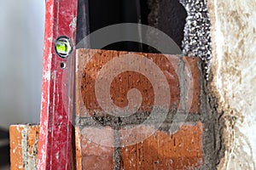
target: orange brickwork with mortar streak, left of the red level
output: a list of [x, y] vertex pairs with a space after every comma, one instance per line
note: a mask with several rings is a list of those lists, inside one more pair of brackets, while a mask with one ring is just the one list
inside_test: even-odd
[[36, 168], [39, 126], [13, 125], [9, 133], [11, 169]]

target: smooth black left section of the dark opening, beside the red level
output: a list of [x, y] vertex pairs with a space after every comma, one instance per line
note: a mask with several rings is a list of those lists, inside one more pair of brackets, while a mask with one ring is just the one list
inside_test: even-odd
[[[140, 0], [79, 0], [77, 43], [90, 32], [105, 26], [140, 23], [140, 9]], [[129, 30], [125, 30], [124, 34], [129, 35]], [[90, 41], [90, 48], [94, 48], [95, 40]], [[103, 49], [143, 51], [142, 44], [138, 42], [115, 42]]]

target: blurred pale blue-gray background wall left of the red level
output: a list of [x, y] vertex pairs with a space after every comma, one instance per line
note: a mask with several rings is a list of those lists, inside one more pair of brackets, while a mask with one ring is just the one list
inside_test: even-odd
[[44, 0], [0, 0], [0, 127], [39, 122]]

